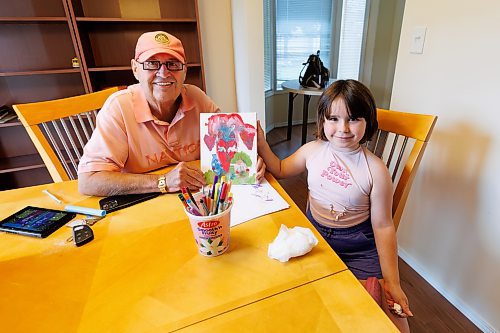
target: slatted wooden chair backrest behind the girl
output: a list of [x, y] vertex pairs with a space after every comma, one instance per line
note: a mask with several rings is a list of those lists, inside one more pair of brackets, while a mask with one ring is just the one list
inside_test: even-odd
[[382, 158], [394, 182], [392, 218], [396, 230], [437, 116], [377, 109], [379, 130], [367, 143]]

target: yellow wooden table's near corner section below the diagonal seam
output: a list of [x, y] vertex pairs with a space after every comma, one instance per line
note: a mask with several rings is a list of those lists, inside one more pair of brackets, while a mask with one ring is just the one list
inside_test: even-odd
[[339, 272], [180, 332], [399, 332], [354, 275]]

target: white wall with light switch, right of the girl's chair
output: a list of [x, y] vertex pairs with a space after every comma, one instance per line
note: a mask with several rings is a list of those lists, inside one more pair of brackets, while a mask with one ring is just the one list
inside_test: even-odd
[[[424, 53], [410, 54], [426, 26]], [[407, 0], [391, 109], [439, 116], [398, 230], [401, 256], [500, 331], [500, 2]], [[410, 300], [411, 301], [411, 300]]]

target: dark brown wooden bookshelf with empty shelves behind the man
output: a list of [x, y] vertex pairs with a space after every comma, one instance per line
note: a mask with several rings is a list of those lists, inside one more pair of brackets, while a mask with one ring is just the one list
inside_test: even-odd
[[[133, 84], [135, 43], [154, 30], [181, 39], [186, 82], [205, 90], [197, 0], [0, 0], [0, 105]], [[0, 174], [0, 190], [52, 181], [17, 120], [0, 124]]]

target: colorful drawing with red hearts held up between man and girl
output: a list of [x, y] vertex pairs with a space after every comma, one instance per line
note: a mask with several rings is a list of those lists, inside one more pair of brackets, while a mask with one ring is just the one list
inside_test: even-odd
[[200, 115], [201, 170], [207, 183], [226, 176], [233, 184], [255, 184], [257, 166], [255, 113]]

